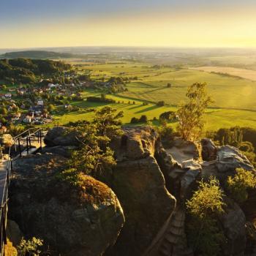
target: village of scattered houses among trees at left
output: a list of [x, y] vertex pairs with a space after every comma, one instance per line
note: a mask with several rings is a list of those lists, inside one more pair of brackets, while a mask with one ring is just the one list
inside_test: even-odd
[[[83, 83], [50, 83], [41, 80], [37, 86], [0, 85], [0, 133], [10, 125], [50, 124], [57, 110], [71, 110], [72, 100], [81, 100]], [[49, 83], [48, 83], [49, 82]]]

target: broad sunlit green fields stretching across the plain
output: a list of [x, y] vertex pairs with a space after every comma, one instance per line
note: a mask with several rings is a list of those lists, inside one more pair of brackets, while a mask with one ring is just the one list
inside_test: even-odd
[[[72, 63], [75, 64], [75, 63]], [[171, 67], [153, 68], [143, 63], [117, 63], [117, 64], [86, 64], [79, 63], [80, 71], [91, 72], [94, 79], [111, 76], [138, 77], [127, 84], [128, 91], [109, 95], [120, 101], [120, 104], [110, 106], [124, 111], [124, 124], [129, 124], [133, 116], [148, 116], [148, 119], [159, 118], [159, 114], [167, 110], [176, 110], [186, 99], [187, 86], [195, 82], [208, 83], [208, 93], [214, 99], [212, 108], [206, 113], [206, 129], [219, 129], [220, 127], [233, 127], [235, 125], [256, 128], [256, 82], [246, 79], [232, 78], [225, 75], [216, 75], [192, 69], [174, 69]], [[167, 88], [171, 83], [171, 88]], [[93, 91], [85, 91], [84, 99], [89, 95], [99, 95]], [[128, 104], [135, 100], [136, 104]], [[165, 107], [158, 107], [155, 102], [164, 100]], [[142, 105], [143, 102], [148, 105]], [[122, 103], [124, 102], [124, 103]], [[99, 108], [102, 104], [91, 102], [74, 102], [80, 108]], [[66, 124], [69, 121], [91, 119], [93, 113], [67, 113], [56, 116], [54, 124]], [[171, 124], [175, 126], [176, 124]]]

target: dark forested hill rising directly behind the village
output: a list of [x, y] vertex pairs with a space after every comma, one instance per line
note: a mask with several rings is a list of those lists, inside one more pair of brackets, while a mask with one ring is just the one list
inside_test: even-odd
[[56, 75], [71, 69], [63, 61], [42, 59], [0, 59], [0, 80], [5, 83], [35, 83], [44, 76]]

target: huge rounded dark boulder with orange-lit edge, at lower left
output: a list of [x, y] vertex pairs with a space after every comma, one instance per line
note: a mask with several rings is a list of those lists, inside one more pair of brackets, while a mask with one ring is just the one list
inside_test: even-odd
[[118, 238], [123, 210], [114, 192], [90, 176], [79, 187], [59, 181], [65, 161], [54, 154], [16, 160], [10, 218], [26, 238], [42, 238], [56, 255], [102, 255]]

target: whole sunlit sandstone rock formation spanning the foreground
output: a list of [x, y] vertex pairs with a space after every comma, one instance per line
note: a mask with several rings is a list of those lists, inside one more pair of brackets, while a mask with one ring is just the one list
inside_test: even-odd
[[[75, 132], [55, 127], [45, 144], [42, 154], [15, 163], [10, 217], [25, 235], [41, 236], [64, 255], [192, 256], [185, 202], [197, 181], [216, 176], [224, 184], [237, 167], [255, 172], [231, 146], [175, 138], [163, 148], [154, 129], [128, 127], [110, 143], [117, 165], [99, 177], [107, 185], [85, 176], [78, 191], [56, 179], [69, 150], [78, 146]], [[219, 217], [227, 238], [222, 252], [242, 255], [246, 217], [231, 198], [225, 196], [225, 203]]]

